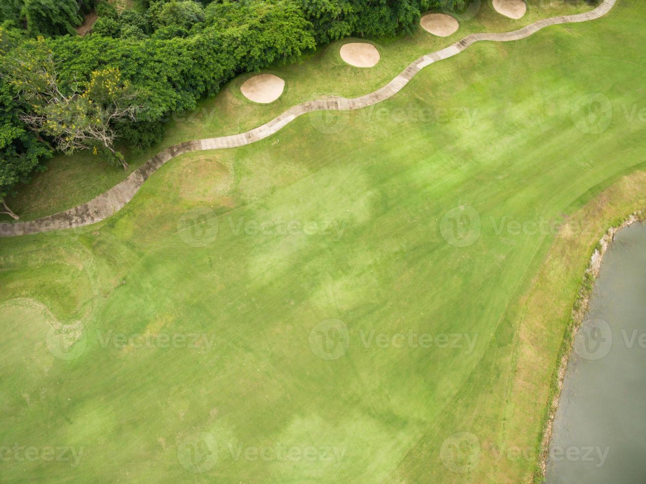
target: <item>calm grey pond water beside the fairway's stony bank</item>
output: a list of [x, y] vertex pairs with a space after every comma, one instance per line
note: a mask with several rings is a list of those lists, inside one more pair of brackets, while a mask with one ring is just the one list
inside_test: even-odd
[[646, 483], [646, 225], [607, 251], [570, 357], [548, 483]]

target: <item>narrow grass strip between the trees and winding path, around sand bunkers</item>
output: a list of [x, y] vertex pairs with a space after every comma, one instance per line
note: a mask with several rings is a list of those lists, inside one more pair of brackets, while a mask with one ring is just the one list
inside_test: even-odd
[[[315, 54], [304, 56], [300, 63], [264, 71], [286, 80], [284, 94], [274, 103], [260, 105], [244, 98], [240, 85], [253, 75], [245, 74], [225, 85], [220, 95], [200, 102], [195, 111], [170, 116], [167, 135], [151, 149], [136, 151], [126, 146], [121, 147], [121, 151], [125, 153], [130, 168], [136, 169], [170, 145], [244, 132], [302, 101], [325, 95], [355, 97], [372, 92], [397, 76], [414, 59], [446, 47], [472, 32], [506, 32], [537, 19], [589, 9], [590, 6], [583, 1], [567, 5], [555, 1], [542, 8], [530, 5], [523, 19], [512, 21], [496, 14], [483, 2], [479, 15], [464, 22], [451, 37], [435, 37], [420, 28], [412, 37], [373, 42], [380, 50], [381, 60], [370, 69], [354, 68], [341, 60], [340, 45], [352, 39], [335, 42]], [[479, 68], [486, 69], [485, 72], [496, 69], [494, 65], [480, 65]], [[339, 79], [344, 81], [340, 83]], [[453, 83], [451, 78], [446, 78], [446, 81]], [[45, 173], [36, 174], [30, 184], [19, 186], [16, 197], [8, 198], [8, 204], [22, 220], [34, 220], [87, 202], [127, 176], [119, 167], [107, 165], [89, 152], [57, 156], [47, 163], [47, 168]], [[10, 220], [8, 216], [0, 215], [0, 221]]]

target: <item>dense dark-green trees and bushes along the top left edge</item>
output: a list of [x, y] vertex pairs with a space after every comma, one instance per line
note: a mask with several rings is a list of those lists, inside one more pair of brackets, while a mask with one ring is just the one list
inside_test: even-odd
[[[342, 37], [410, 34], [424, 10], [460, 1], [140, 0], [118, 12], [106, 1], [4, 0], [0, 200], [54, 151], [110, 155], [116, 140], [148, 147], [170, 112], [194, 109], [236, 74]], [[76, 35], [92, 10], [92, 32]], [[129, 107], [117, 99], [125, 92]]]

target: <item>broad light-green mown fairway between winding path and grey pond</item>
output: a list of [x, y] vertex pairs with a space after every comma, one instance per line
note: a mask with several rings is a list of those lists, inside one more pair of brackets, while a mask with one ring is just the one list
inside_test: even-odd
[[[95, 226], [0, 239], [0, 445], [83, 447], [76, 467], [3, 461], [3, 479], [531, 478], [535, 456], [514, 459], [499, 450], [536, 448], [586, 258], [601, 227], [643, 201], [643, 176], [629, 178], [632, 184], [621, 178], [646, 162], [644, 123], [627, 120], [622, 109], [646, 107], [638, 75], [646, 14], [637, 5], [621, 1], [605, 19], [550, 27], [523, 41], [477, 44], [422, 70], [373, 109], [329, 114], [342, 128], [335, 134], [321, 132], [325, 115], [313, 113], [253, 145], [176, 158]], [[289, 84], [281, 106], [244, 104], [236, 79], [207, 103], [244, 106], [239, 114], [232, 108], [210, 126], [175, 125], [164, 144], [260, 123], [307, 99], [313, 79], [328, 79], [326, 93], [371, 90], [433, 50], [422, 49], [420, 36], [388, 47], [398, 60], [384, 59], [379, 79], [361, 71], [340, 83], [346, 68], [329, 50], [277, 70], [307, 72], [302, 84]], [[590, 92], [605, 94], [614, 108], [598, 135], [578, 131], [571, 116], [574, 101]], [[476, 117], [470, 124], [401, 116], [422, 109], [465, 109]], [[42, 178], [41, 189], [59, 163], [36, 180]], [[71, 160], [67, 167], [78, 169]], [[102, 176], [89, 176], [85, 188], [56, 204], [112, 183]], [[59, 189], [40, 196], [53, 198]], [[25, 200], [23, 212], [33, 216], [58, 209], [36, 207], [35, 194]], [[459, 205], [474, 207], [481, 220], [480, 237], [466, 247], [448, 244], [441, 230], [443, 216]], [[196, 206], [213, 212], [191, 231], [182, 215]], [[569, 237], [497, 230], [503, 220], [555, 221], [563, 214], [594, 229]], [[202, 231], [214, 233], [215, 220], [213, 242], [198, 246]], [[278, 220], [333, 221], [343, 231], [317, 226], [308, 235], [293, 225], [293, 233], [265, 226], [254, 234], [245, 225]], [[347, 352], [332, 361], [308, 344], [328, 319], [349, 331]], [[83, 353], [52, 356], [48, 329], [78, 321], [86, 337], [74, 348], [85, 345]], [[215, 344], [104, 347], [110, 330], [199, 333]], [[364, 344], [372, 330], [476, 339], [472, 351], [441, 348], [441, 340], [430, 348], [380, 348]], [[178, 459], [195, 432], [213, 434], [218, 445], [216, 465], [202, 474]], [[465, 474], [441, 459], [443, 443], [457, 432], [474, 434], [481, 446], [479, 463]], [[229, 450], [279, 444], [314, 447], [314, 458], [322, 447], [343, 456], [336, 465], [283, 461], [275, 452], [267, 460], [244, 453], [236, 459]]]

